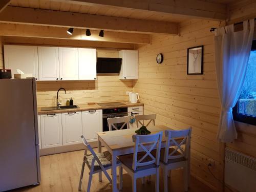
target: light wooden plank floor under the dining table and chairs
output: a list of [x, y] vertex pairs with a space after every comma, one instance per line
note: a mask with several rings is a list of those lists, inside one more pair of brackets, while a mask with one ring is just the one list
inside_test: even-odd
[[[97, 151], [97, 149], [95, 150]], [[41, 183], [37, 186], [24, 187], [12, 191], [78, 191], [78, 182], [82, 164], [83, 151], [55, 154], [40, 157], [41, 163]], [[89, 169], [86, 166], [84, 172], [84, 182], [82, 183], [82, 190], [86, 191]], [[103, 174], [102, 174], [103, 175]], [[109, 184], [105, 176], [102, 177], [103, 181], [98, 181], [98, 176], [93, 176], [93, 183], [91, 191], [111, 192], [112, 186]], [[150, 192], [155, 191], [154, 177], [150, 183], [141, 184], [141, 180], [137, 180], [137, 191]], [[168, 183], [168, 191], [178, 192], [183, 190], [183, 177], [182, 169], [174, 170], [172, 172], [172, 179]], [[124, 173], [123, 175], [123, 192], [132, 191], [131, 177]], [[160, 191], [163, 191], [162, 172], [160, 170]], [[191, 177], [189, 191], [213, 191], [205, 184], [197, 179]]]

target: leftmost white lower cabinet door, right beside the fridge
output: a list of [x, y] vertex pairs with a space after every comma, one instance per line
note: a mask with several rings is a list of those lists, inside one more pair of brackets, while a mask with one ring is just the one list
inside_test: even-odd
[[41, 148], [62, 146], [61, 114], [40, 116]]

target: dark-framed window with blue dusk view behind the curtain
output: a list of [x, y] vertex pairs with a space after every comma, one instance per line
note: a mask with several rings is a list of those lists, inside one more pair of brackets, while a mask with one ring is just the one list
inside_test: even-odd
[[256, 125], [256, 40], [252, 42], [241, 95], [233, 108], [234, 120]]

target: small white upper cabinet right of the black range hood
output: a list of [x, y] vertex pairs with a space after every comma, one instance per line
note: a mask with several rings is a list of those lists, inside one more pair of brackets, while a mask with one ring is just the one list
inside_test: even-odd
[[122, 58], [119, 79], [138, 79], [138, 51], [121, 50], [119, 58]]

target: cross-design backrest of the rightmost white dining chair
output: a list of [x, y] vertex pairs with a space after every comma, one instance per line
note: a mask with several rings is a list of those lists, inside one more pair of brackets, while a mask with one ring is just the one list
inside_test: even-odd
[[[165, 130], [166, 146], [164, 152], [164, 162], [169, 159], [188, 158], [190, 150], [191, 127], [186, 130]], [[172, 145], [170, 150], [170, 145]], [[185, 145], [182, 147], [182, 145]]]

